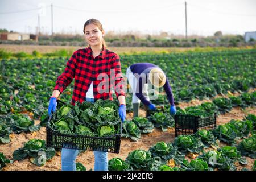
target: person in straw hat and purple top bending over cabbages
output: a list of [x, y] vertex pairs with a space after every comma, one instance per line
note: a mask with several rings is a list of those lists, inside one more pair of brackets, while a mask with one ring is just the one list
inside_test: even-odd
[[174, 96], [168, 78], [158, 66], [151, 63], [135, 63], [127, 68], [126, 77], [128, 78], [131, 89], [133, 90], [133, 115], [139, 116], [139, 104], [142, 103], [150, 110], [156, 110], [156, 106], [150, 102], [148, 96], [148, 82], [154, 87], [163, 86], [168, 101], [170, 102], [170, 114], [176, 114]]

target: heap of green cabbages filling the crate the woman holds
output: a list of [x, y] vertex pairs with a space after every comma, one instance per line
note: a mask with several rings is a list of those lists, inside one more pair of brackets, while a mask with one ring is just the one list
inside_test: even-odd
[[49, 127], [62, 134], [77, 134], [93, 137], [111, 137], [117, 134], [121, 119], [118, 105], [110, 100], [76, 102], [62, 105], [53, 113]]

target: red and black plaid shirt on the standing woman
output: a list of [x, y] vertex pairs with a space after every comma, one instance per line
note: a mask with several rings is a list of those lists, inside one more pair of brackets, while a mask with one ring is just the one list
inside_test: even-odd
[[[112, 73], [110, 69], [113, 69]], [[103, 76], [108, 75], [108, 79], [98, 79], [101, 73]], [[92, 81], [95, 100], [100, 98], [113, 100], [113, 92], [110, 88], [114, 88], [117, 97], [120, 95], [125, 96], [119, 56], [108, 49], [103, 48], [100, 55], [95, 58], [93, 58], [93, 52], [90, 47], [75, 51], [69, 59], [65, 71], [57, 78], [54, 90], [59, 90], [62, 93], [73, 78], [75, 78], [75, 84], [72, 105], [75, 105], [76, 101], [85, 101], [86, 92]], [[102, 84], [107, 85], [102, 86]]]

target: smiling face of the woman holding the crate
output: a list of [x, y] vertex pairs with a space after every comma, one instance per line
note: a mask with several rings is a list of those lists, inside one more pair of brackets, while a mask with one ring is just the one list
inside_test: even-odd
[[98, 46], [102, 44], [102, 35], [104, 31], [100, 31], [98, 26], [93, 23], [85, 27], [85, 40], [90, 46]]

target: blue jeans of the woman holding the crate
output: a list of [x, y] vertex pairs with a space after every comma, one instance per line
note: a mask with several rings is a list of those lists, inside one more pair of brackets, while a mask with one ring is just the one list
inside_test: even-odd
[[[86, 98], [88, 102], [94, 102], [93, 98]], [[63, 171], [76, 171], [76, 157], [79, 150], [62, 148], [61, 150], [61, 169]], [[108, 152], [94, 153], [94, 171], [108, 171]]]

